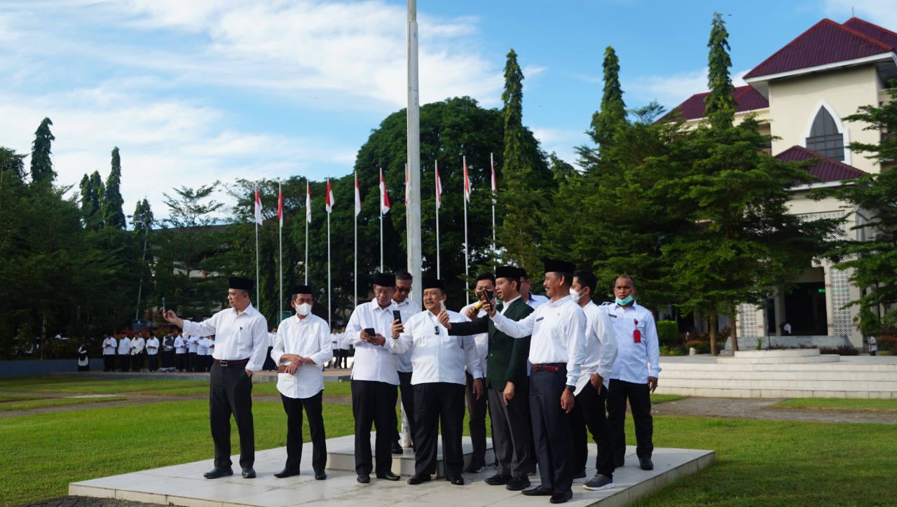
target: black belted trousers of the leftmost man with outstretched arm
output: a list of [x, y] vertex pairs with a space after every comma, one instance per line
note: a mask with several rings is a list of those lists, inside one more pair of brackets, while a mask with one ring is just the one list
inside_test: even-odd
[[231, 415], [239, 432], [239, 467], [256, 462], [256, 434], [252, 422], [252, 377], [246, 365], [213, 365], [209, 375], [209, 425], [215, 445], [215, 467], [230, 468]]

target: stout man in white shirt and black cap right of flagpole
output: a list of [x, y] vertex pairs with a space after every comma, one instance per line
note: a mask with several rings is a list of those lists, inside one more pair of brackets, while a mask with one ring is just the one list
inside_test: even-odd
[[436, 447], [440, 420], [442, 423], [442, 455], [446, 480], [463, 485], [464, 454], [461, 435], [464, 431], [465, 368], [474, 375], [474, 392], [483, 396], [483, 372], [480, 356], [472, 336], [448, 336], [439, 322], [440, 312], [448, 314], [448, 322], [465, 322], [461, 314], [445, 310], [446, 288], [442, 280], [423, 279], [423, 307], [426, 312], [414, 314], [408, 322], [396, 322], [389, 345], [393, 351], [411, 352], [414, 373], [414, 476], [408, 484], [430, 480], [436, 472]]

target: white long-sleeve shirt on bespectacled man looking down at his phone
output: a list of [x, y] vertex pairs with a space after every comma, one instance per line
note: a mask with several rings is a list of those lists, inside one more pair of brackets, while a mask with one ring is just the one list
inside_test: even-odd
[[[352, 367], [353, 380], [386, 382], [398, 385], [397, 358], [389, 348], [392, 339], [392, 311], [396, 305], [390, 302], [380, 308], [377, 299], [355, 307], [343, 333], [346, 341], [355, 348]], [[361, 330], [373, 328], [387, 339], [383, 345], [372, 345], [361, 341]]]

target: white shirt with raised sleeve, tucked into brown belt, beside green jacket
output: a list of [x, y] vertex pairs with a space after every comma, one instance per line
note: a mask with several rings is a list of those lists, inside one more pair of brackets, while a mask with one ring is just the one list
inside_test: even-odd
[[492, 317], [495, 328], [513, 338], [533, 335], [529, 342], [529, 362], [567, 364], [567, 385], [576, 385], [580, 365], [586, 358], [586, 314], [570, 296], [538, 305], [522, 321], [512, 321], [498, 312]]

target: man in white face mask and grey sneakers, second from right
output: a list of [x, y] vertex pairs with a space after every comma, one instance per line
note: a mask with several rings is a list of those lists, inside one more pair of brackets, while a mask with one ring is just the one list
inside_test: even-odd
[[576, 404], [570, 412], [573, 433], [573, 478], [586, 477], [588, 460], [588, 432], [598, 446], [595, 477], [582, 485], [590, 491], [614, 487], [614, 456], [611, 453], [611, 434], [607, 429], [605, 400], [610, 382], [611, 367], [617, 356], [616, 337], [610, 316], [592, 302], [598, 280], [591, 271], [573, 273], [570, 298], [586, 314], [586, 360], [576, 381]]

